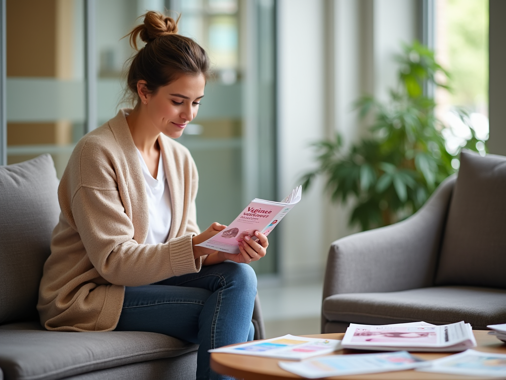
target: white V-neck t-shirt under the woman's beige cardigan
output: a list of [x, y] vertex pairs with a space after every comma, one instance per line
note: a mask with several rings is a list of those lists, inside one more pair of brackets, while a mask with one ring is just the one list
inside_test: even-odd
[[163, 169], [163, 158], [160, 152], [158, 174], [155, 179], [149, 172], [139, 149], [137, 149], [137, 156], [139, 156], [141, 162], [148, 197], [149, 226], [148, 236], [144, 244], [165, 243], [168, 232], [171, 230], [172, 201], [165, 170]]

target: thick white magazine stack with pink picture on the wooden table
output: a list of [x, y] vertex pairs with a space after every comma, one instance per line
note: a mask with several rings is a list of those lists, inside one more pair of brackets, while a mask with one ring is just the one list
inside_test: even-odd
[[350, 324], [343, 338], [343, 348], [376, 351], [455, 352], [476, 347], [469, 323], [435, 326], [426, 322], [392, 325]]

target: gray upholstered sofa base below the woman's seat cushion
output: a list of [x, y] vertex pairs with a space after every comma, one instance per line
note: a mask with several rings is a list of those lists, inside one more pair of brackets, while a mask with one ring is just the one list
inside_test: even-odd
[[142, 363], [88, 372], [64, 380], [194, 380], [197, 371], [197, 352], [175, 358], [150, 360]]

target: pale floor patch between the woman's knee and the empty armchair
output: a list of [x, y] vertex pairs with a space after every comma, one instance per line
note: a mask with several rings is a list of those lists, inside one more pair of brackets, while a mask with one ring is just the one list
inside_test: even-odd
[[281, 283], [259, 279], [266, 337], [320, 333], [321, 280]]

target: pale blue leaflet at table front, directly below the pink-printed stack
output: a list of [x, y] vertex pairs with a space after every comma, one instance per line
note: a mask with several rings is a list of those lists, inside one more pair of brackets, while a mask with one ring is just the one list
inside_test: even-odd
[[381, 354], [330, 355], [302, 362], [279, 362], [286, 371], [307, 378], [321, 378], [361, 373], [403, 371], [427, 365], [407, 351]]

